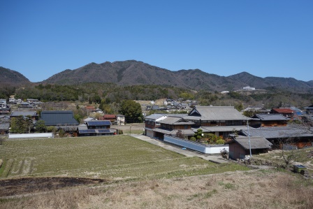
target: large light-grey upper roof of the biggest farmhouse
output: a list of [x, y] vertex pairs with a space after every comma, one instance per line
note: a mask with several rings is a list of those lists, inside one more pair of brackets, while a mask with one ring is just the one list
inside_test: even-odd
[[247, 120], [233, 106], [196, 106], [184, 117], [187, 120]]

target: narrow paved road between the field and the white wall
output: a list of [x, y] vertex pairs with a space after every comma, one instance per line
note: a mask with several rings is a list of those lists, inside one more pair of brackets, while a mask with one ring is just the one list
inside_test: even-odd
[[201, 154], [201, 153], [198, 153], [198, 152], [194, 152], [194, 151], [191, 151], [191, 150], [182, 150], [182, 147], [175, 147], [173, 145], [169, 145], [167, 143], [163, 143], [161, 140], [157, 140], [157, 139], [150, 138], [148, 136], [144, 136], [144, 135], [140, 135], [140, 134], [131, 134], [131, 136], [136, 137], [136, 138], [138, 138], [140, 140], [145, 140], [148, 143], [152, 143], [154, 145], [158, 145], [160, 147], [163, 147], [166, 150], [170, 150], [170, 151], [173, 151], [173, 152], [177, 152], [177, 153], [183, 154], [183, 155], [185, 155], [187, 157], [200, 157], [202, 159], [205, 159], [205, 160], [208, 160], [208, 161], [212, 161], [212, 162], [217, 163], [217, 164], [229, 163], [229, 161], [222, 159], [220, 155], [207, 155], [207, 154]]

